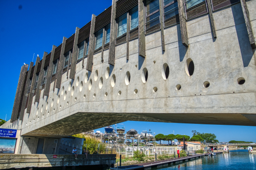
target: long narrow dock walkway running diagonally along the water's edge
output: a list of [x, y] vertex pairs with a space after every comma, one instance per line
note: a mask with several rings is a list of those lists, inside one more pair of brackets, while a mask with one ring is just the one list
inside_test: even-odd
[[[221, 152], [216, 152], [216, 154], [223, 153]], [[151, 170], [151, 168], [165, 168], [168, 167], [168, 165], [173, 165], [173, 164], [179, 164], [182, 162], [187, 162], [190, 160], [198, 159], [202, 156], [208, 155], [207, 153], [204, 154], [196, 154], [196, 155], [191, 155], [191, 156], [185, 156], [185, 157], [180, 157], [180, 158], [173, 158], [173, 159], [167, 159], [167, 160], [162, 160], [162, 161], [155, 161], [155, 162], [147, 162], [147, 163], [142, 163], [142, 164], [137, 164], [137, 165], [128, 165], [128, 166], [120, 166], [116, 168], [110, 168], [110, 170]]]

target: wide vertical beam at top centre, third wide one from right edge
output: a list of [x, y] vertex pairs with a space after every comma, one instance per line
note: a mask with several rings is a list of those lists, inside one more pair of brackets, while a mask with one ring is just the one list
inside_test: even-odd
[[144, 25], [144, 2], [138, 0], [138, 55], [146, 57], [145, 25]]

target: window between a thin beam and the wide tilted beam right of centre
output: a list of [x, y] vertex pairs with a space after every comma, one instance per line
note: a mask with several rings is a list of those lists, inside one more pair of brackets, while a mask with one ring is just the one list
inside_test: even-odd
[[177, 0], [164, 0], [164, 20], [174, 17], [178, 14], [178, 2]]

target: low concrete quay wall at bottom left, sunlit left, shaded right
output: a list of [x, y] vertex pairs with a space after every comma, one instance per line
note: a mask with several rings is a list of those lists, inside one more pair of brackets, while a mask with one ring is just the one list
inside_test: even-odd
[[116, 161], [116, 154], [79, 154], [78, 159], [72, 154], [0, 154], [0, 169], [26, 167], [61, 167], [84, 165], [111, 165]]

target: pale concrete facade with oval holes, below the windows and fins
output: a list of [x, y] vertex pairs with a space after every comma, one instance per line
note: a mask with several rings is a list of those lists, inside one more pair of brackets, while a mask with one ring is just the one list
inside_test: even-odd
[[[247, 6], [256, 34], [256, 0], [248, 0]], [[207, 14], [186, 22], [188, 48], [181, 43], [177, 24], [164, 29], [165, 51], [158, 31], [146, 35], [145, 58], [138, 56], [135, 39], [129, 41], [129, 60], [126, 43], [116, 47], [115, 66], [108, 64], [108, 50], [103, 62], [101, 53], [94, 54], [92, 72], [77, 63], [74, 80], [63, 73], [60, 89], [54, 90], [53, 82], [49, 97], [43, 98], [43, 89], [39, 103], [33, 98], [21, 135], [60, 138], [126, 120], [256, 126], [256, 52], [241, 4], [213, 16], [217, 38]], [[191, 60], [195, 70], [190, 76]], [[237, 83], [239, 78], [244, 78], [243, 85]], [[204, 87], [206, 81], [209, 87]]]

